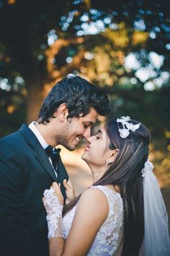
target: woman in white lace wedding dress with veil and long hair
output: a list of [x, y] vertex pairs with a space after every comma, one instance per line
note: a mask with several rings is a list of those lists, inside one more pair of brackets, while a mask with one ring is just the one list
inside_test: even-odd
[[164, 200], [148, 161], [150, 133], [129, 116], [88, 139], [93, 185], [63, 208], [60, 184], [44, 192], [50, 256], [170, 255]]

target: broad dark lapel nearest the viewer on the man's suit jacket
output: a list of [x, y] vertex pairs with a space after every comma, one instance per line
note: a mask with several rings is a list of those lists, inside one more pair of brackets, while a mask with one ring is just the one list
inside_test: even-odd
[[48, 155], [45, 153], [45, 150], [42, 148], [42, 145], [40, 145], [40, 142], [37, 140], [37, 137], [34, 135], [31, 129], [27, 127], [26, 124], [22, 124], [19, 132], [22, 134], [22, 137], [24, 137], [27, 145], [35, 150], [35, 158], [40, 163], [42, 168], [51, 176], [54, 181], [56, 181], [55, 172], [50, 164]]

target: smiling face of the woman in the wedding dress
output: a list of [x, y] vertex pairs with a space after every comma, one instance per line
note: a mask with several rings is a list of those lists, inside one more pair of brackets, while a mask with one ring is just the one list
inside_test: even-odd
[[109, 150], [109, 137], [107, 137], [105, 129], [99, 129], [97, 135], [88, 138], [88, 142], [81, 158], [89, 166], [99, 166], [100, 168], [103, 166], [106, 168], [107, 159], [112, 150]]

